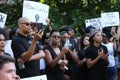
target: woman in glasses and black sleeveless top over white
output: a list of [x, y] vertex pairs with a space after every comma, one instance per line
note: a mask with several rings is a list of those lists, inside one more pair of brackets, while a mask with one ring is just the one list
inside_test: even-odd
[[46, 74], [48, 80], [65, 80], [64, 70], [67, 64], [64, 55], [68, 48], [60, 48], [60, 33], [58, 30], [52, 30], [50, 33], [50, 45], [44, 48], [46, 54]]

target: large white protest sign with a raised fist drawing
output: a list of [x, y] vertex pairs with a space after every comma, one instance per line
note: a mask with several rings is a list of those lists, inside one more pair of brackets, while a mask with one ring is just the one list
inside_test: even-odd
[[28, 17], [32, 22], [43, 23], [47, 25], [46, 19], [49, 14], [49, 6], [34, 2], [24, 1], [22, 17]]

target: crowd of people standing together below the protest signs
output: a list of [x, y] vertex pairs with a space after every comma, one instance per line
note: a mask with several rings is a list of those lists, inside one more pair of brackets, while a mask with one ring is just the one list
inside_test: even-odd
[[7, 33], [0, 29], [0, 79], [19, 80], [47, 75], [47, 80], [117, 80], [115, 55], [119, 39], [110, 27], [88, 26], [76, 39], [74, 29], [52, 29], [18, 20], [18, 27]]

